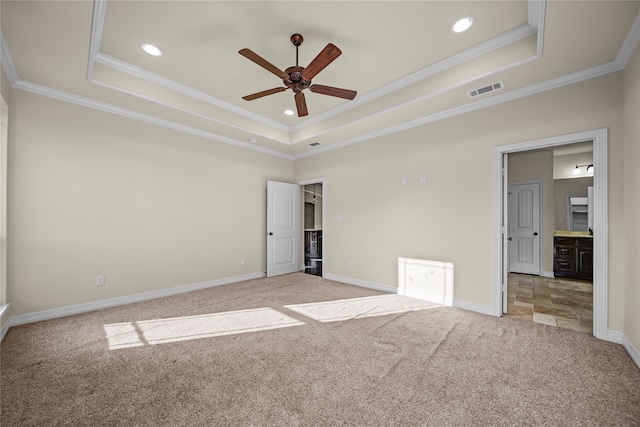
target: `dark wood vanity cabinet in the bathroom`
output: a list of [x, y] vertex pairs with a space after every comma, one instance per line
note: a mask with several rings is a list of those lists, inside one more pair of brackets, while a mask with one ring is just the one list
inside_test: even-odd
[[593, 280], [593, 239], [554, 237], [553, 274], [556, 277]]

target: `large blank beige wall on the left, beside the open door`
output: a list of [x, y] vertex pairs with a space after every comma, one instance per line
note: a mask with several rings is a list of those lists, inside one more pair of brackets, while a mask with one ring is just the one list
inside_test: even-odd
[[293, 161], [23, 91], [11, 108], [11, 315], [265, 271], [266, 181]]

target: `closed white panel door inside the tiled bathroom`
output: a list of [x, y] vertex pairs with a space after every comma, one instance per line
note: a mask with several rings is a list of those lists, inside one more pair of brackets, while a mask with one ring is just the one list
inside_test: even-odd
[[540, 184], [510, 184], [509, 271], [540, 274]]

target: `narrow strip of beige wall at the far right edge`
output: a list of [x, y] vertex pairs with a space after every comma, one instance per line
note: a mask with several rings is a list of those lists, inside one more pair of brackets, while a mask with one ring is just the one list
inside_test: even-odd
[[[640, 49], [624, 71], [624, 334], [640, 351]], [[622, 243], [621, 243], [622, 245]]]

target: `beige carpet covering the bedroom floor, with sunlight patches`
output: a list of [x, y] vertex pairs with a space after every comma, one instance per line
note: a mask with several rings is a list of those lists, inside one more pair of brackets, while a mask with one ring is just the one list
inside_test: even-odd
[[12, 327], [0, 424], [638, 426], [622, 346], [295, 273]]

